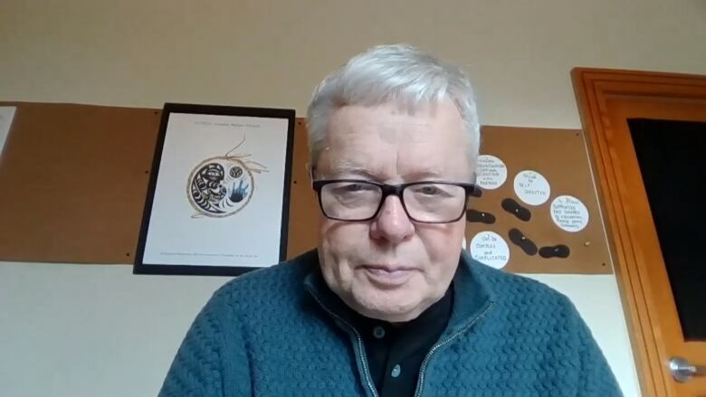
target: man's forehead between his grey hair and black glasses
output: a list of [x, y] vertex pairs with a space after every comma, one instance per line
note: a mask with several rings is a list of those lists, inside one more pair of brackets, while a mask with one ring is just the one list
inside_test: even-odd
[[340, 109], [330, 120], [320, 171], [330, 177], [468, 179], [468, 145], [455, 107]]

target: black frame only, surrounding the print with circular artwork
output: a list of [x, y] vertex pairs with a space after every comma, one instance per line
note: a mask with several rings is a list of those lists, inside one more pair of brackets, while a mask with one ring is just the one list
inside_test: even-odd
[[[284, 159], [284, 180], [282, 191], [281, 208], [281, 231], [279, 260], [286, 259], [287, 253], [287, 232], [289, 226], [289, 207], [291, 194], [291, 159], [294, 144], [294, 122], [295, 111], [293, 109], [269, 109], [269, 108], [249, 108], [234, 106], [199, 105], [185, 103], [165, 103], [162, 109], [155, 155], [152, 161], [151, 175], [148, 184], [148, 194], [145, 200], [145, 207], [142, 216], [142, 223], [139, 232], [138, 249], [133, 264], [133, 274], [160, 274], [160, 275], [199, 275], [199, 276], [238, 276], [247, 271], [261, 269], [262, 266], [215, 266], [213, 264], [199, 264], [197, 260], [193, 264], [170, 264], [170, 263], [145, 263], [144, 255], [148, 240], [150, 218], [153, 213], [155, 191], [159, 180], [159, 168], [164, 155], [164, 145], [167, 138], [167, 130], [170, 115], [174, 113], [185, 113], [190, 115], [216, 115], [216, 116], [240, 116], [249, 118], [282, 118], [287, 122], [286, 137], [286, 158]], [[274, 265], [276, 263], [272, 263]]]

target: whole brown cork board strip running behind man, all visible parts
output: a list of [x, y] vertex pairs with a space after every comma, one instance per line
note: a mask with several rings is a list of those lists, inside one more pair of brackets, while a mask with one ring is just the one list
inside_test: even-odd
[[[16, 107], [0, 157], [0, 260], [132, 264], [161, 111], [75, 104], [0, 105]], [[298, 118], [295, 127], [288, 258], [316, 245], [319, 217], [306, 171], [303, 119]], [[486, 162], [480, 176], [490, 187], [479, 189], [480, 196], [469, 203], [465, 248], [497, 261], [503, 254], [500, 238], [507, 246], [503, 269], [508, 271], [610, 273], [581, 131], [485, 127], [483, 134]], [[506, 177], [500, 184], [503, 166]], [[521, 171], [533, 171], [547, 180], [550, 192], [545, 202], [522, 201], [521, 191], [518, 195], [514, 189], [514, 178]], [[522, 177], [520, 182], [538, 180], [536, 175]], [[551, 204], [559, 196], [579, 201], [587, 219], [577, 216], [578, 204], [569, 201], [554, 206], [562, 220], [553, 221]], [[521, 237], [525, 240], [518, 240]], [[537, 252], [532, 253], [527, 240]], [[548, 251], [548, 247], [559, 250]]]

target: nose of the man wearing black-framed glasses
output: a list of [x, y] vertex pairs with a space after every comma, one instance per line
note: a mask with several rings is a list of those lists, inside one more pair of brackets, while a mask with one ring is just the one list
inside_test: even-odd
[[385, 240], [396, 244], [405, 241], [414, 232], [415, 223], [405, 213], [400, 198], [396, 195], [388, 195], [380, 212], [377, 213], [377, 218], [370, 226], [370, 236], [374, 240]]

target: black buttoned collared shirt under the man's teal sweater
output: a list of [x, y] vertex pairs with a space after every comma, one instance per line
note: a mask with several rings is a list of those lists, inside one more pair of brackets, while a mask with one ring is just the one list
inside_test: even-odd
[[349, 310], [363, 337], [370, 375], [380, 397], [414, 396], [426, 354], [439, 340], [451, 317], [453, 285], [443, 298], [404, 324], [363, 317]]

